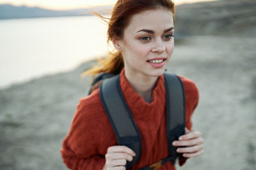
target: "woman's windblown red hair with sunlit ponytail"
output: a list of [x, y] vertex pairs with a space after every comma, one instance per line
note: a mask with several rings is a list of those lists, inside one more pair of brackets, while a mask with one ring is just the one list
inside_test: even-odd
[[[102, 20], [108, 23], [108, 43], [112, 39], [122, 39], [124, 30], [129, 25], [132, 15], [141, 13], [147, 10], [156, 10], [157, 8], [166, 8], [173, 13], [174, 21], [174, 3], [172, 0], [118, 0], [113, 8], [111, 18], [102, 17], [99, 13], [95, 13]], [[118, 74], [124, 67], [124, 60], [121, 52], [111, 53], [105, 59], [99, 59], [99, 65], [88, 71], [85, 71], [82, 76], [87, 74], [96, 75], [99, 73]]]

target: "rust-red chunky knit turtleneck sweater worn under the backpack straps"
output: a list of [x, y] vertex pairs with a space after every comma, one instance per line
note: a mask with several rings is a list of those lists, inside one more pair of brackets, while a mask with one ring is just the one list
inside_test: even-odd
[[[179, 76], [184, 84], [186, 95], [186, 127], [191, 129], [191, 115], [198, 103], [198, 89], [195, 83]], [[154, 164], [168, 156], [166, 139], [166, 99], [164, 78], [160, 76], [152, 92], [151, 103], [146, 103], [125, 78], [124, 70], [120, 75], [120, 85], [125, 100], [141, 134], [142, 153], [140, 160], [132, 169]], [[70, 169], [102, 169], [109, 146], [117, 145], [115, 133], [109, 123], [99, 97], [99, 89], [80, 99], [72, 120], [70, 131], [63, 141], [61, 155]], [[182, 165], [186, 159], [179, 159]], [[161, 168], [174, 170], [175, 166], [167, 162]]]

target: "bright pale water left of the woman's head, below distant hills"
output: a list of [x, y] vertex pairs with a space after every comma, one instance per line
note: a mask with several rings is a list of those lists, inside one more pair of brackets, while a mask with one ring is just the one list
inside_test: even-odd
[[0, 20], [0, 88], [106, 55], [106, 31], [95, 16]]

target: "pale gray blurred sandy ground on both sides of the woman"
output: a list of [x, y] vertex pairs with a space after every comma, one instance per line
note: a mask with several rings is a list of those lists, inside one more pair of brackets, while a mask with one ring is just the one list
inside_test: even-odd
[[[189, 36], [176, 41], [168, 71], [196, 82], [193, 129], [205, 153], [177, 169], [256, 169], [256, 39]], [[0, 90], [0, 169], [67, 169], [60, 157], [92, 62]]]

